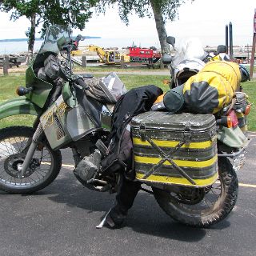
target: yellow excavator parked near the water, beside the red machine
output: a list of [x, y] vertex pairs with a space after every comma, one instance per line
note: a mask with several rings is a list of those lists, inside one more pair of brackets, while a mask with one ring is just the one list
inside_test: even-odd
[[120, 54], [118, 50], [103, 50], [102, 47], [90, 45], [88, 50], [95, 51], [101, 61], [108, 65], [121, 64], [121, 57], [124, 57], [124, 62], [130, 62], [130, 56], [126, 54]]

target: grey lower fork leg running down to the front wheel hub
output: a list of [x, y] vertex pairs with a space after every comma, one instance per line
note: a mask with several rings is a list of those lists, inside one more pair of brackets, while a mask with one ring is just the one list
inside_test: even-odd
[[26, 158], [24, 159], [24, 162], [23, 162], [22, 166], [20, 167], [20, 170], [21, 170], [20, 178], [24, 177], [26, 170], [30, 166], [30, 162], [33, 158], [35, 150], [37, 149], [38, 142], [39, 142], [39, 139], [41, 138], [42, 133], [43, 133], [42, 124], [41, 124], [41, 122], [39, 122], [37, 130], [35, 130], [35, 132], [34, 132], [29, 150], [26, 153]]

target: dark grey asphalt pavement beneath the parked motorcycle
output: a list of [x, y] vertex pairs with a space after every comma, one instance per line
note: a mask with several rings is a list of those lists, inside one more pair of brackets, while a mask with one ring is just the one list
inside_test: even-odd
[[72, 159], [48, 187], [31, 195], [0, 192], [1, 256], [64, 255], [256, 255], [255, 139], [239, 171], [238, 202], [229, 218], [208, 229], [174, 222], [154, 197], [140, 192], [119, 230], [97, 230], [114, 195], [84, 188], [72, 174]]

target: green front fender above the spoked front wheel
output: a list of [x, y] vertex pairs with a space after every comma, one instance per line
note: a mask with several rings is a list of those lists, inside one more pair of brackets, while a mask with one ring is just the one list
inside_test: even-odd
[[0, 105], [0, 120], [17, 114], [38, 116], [41, 113], [42, 109], [25, 97], [10, 99]]

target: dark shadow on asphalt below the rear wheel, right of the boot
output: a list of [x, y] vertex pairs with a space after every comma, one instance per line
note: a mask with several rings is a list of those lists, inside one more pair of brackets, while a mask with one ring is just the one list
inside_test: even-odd
[[126, 226], [129, 226], [135, 232], [153, 234], [154, 236], [178, 241], [198, 242], [206, 236], [206, 233], [209, 233], [207, 230], [223, 230], [230, 226], [228, 220], [224, 220], [208, 229], [183, 225], [165, 214], [158, 206], [153, 195], [145, 193], [138, 194], [131, 211], [126, 220]]

